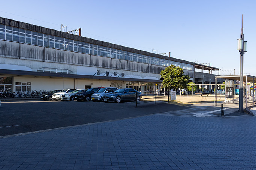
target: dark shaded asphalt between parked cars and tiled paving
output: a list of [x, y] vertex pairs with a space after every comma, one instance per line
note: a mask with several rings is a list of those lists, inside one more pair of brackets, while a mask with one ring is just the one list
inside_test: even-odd
[[169, 103], [104, 103], [70, 101], [4, 101], [0, 136], [144, 116], [187, 107]]

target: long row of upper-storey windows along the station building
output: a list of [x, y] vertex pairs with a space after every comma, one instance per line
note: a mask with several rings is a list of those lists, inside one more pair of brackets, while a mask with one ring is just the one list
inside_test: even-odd
[[155, 64], [159, 66], [170, 66], [174, 64], [185, 70], [193, 70], [193, 65], [171, 60], [159, 59], [86, 42], [70, 40], [67, 38], [42, 34], [40, 32], [29, 31], [0, 24], [0, 39], [21, 42], [26, 44], [39, 45], [43, 47], [56, 48], [61, 50], [74, 51], [96, 56], [111, 57], [115, 59], [129, 60], [140, 63]]

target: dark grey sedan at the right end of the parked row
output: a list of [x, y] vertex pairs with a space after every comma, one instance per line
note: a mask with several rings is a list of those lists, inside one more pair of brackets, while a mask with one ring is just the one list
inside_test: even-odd
[[137, 90], [130, 88], [118, 89], [111, 94], [103, 96], [105, 102], [115, 101], [116, 103], [127, 100], [140, 101], [141, 98], [141, 92], [138, 92]]

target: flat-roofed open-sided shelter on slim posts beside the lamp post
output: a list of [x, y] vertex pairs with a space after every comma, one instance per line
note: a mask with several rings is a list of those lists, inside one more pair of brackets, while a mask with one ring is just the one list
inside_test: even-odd
[[[234, 81], [240, 81], [240, 75], [215, 76], [215, 86], [217, 86], [218, 78], [223, 78], [226, 80], [225, 87], [226, 87], [226, 89], [229, 90], [229, 94], [225, 94], [225, 98], [232, 97], [232, 94], [234, 94], [235, 86], [237, 86], [237, 84], [234, 84]], [[255, 81], [256, 81], [255, 76], [243, 75], [243, 88], [244, 88], [244, 92], [245, 92], [244, 99], [245, 99], [246, 107], [247, 107], [247, 98], [249, 98], [251, 96], [251, 94], [252, 94], [252, 98], [253, 98], [252, 104], [254, 104], [254, 101], [255, 101], [254, 83], [255, 83]], [[248, 85], [248, 83], [249, 83], [249, 85]], [[250, 88], [250, 87], [253, 87], [253, 88]], [[227, 91], [225, 91], [225, 93], [227, 93]], [[217, 106], [217, 88], [214, 89], [214, 94], [215, 94], [214, 105]]]

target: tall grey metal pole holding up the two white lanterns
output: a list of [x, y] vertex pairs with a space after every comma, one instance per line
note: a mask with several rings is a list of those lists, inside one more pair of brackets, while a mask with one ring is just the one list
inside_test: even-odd
[[243, 76], [244, 76], [244, 34], [243, 34], [243, 14], [242, 14], [242, 28], [240, 38], [243, 40], [242, 50], [240, 50], [240, 83], [239, 83], [239, 112], [244, 112], [244, 89], [243, 89]]

